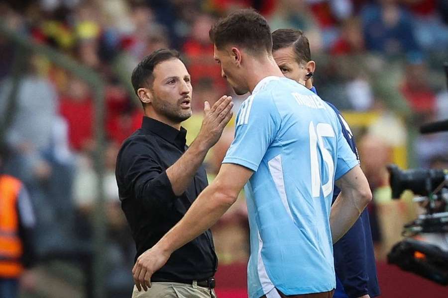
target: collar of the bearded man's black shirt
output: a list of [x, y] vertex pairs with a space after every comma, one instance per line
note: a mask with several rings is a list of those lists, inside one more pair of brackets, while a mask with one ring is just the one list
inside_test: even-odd
[[180, 131], [168, 124], [157, 121], [154, 118], [143, 116], [141, 128], [144, 131], [152, 132], [166, 141], [175, 144], [179, 149], [184, 150], [187, 143], [187, 130], [181, 127]]

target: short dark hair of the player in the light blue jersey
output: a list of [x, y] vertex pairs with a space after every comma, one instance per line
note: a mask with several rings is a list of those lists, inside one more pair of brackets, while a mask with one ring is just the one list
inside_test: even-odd
[[266, 19], [251, 8], [238, 9], [221, 18], [212, 26], [209, 36], [218, 49], [235, 44], [252, 53], [272, 53], [271, 29]]

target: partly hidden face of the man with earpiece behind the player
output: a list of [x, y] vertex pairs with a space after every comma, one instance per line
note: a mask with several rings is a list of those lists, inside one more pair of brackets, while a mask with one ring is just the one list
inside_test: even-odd
[[[292, 46], [278, 49], [272, 53], [272, 56], [274, 56], [275, 63], [277, 63], [278, 67], [287, 78], [293, 79], [299, 83], [306, 81], [306, 75], [309, 70], [307, 70], [306, 63], [297, 62]], [[314, 72], [314, 70], [310, 71]]]

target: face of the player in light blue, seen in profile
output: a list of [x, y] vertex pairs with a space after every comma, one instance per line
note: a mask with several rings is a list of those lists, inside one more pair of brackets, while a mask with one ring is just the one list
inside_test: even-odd
[[227, 80], [236, 94], [242, 95], [249, 92], [249, 88], [242, 76], [242, 69], [238, 62], [238, 58], [235, 56], [234, 51], [232, 51], [233, 49], [235, 48], [225, 47], [224, 49], [219, 50], [215, 46], [213, 57], [221, 66], [221, 76]]

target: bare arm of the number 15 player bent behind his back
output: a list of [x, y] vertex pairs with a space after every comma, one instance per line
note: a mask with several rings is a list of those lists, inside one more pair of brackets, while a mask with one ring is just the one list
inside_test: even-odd
[[333, 243], [348, 231], [372, 200], [367, 178], [359, 165], [336, 180], [335, 184], [340, 188], [340, 194], [330, 213]]

